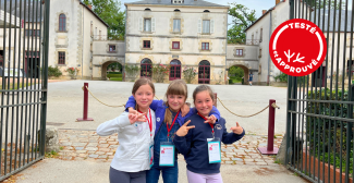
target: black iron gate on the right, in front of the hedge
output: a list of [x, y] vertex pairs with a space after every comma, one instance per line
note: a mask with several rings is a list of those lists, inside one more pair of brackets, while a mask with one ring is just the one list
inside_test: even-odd
[[328, 52], [288, 77], [286, 166], [312, 182], [353, 182], [353, 0], [290, 0], [290, 19], [318, 25]]

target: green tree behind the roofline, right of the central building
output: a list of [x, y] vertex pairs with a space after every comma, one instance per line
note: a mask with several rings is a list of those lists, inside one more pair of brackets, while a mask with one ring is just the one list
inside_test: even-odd
[[235, 2], [230, 3], [229, 15], [232, 16], [232, 27], [228, 30], [228, 44], [244, 44], [245, 29], [256, 22], [256, 11]]

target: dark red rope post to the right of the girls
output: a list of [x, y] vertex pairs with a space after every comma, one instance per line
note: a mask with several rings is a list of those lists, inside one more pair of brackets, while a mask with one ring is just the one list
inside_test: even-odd
[[261, 155], [277, 155], [279, 150], [277, 147], [274, 147], [276, 108], [271, 106], [272, 103], [276, 103], [276, 100], [269, 99], [268, 143], [267, 147], [258, 147]]

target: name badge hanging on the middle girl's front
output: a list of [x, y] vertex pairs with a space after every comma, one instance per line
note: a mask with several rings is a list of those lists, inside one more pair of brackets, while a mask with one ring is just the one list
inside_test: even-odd
[[174, 145], [171, 142], [161, 142], [159, 166], [174, 167]]

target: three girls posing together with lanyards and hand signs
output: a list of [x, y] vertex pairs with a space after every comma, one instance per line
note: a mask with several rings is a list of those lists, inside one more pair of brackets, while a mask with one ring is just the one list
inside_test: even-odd
[[[110, 168], [111, 183], [157, 183], [160, 173], [163, 182], [176, 183], [179, 151], [186, 159], [190, 183], [199, 183], [202, 180], [222, 182], [220, 163], [207, 161], [206, 137], [210, 137], [210, 134], [206, 131], [206, 126], [209, 126], [209, 131], [212, 126], [212, 132], [217, 129], [215, 134], [212, 133], [213, 141], [219, 139], [224, 144], [242, 138], [244, 131], [237, 123], [231, 129], [233, 133], [227, 133], [225, 121], [212, 106], [213, 94], [208, 86], [202, 85], [195, 89], [193, 98], [196, 109], [191, 110], [185, 107], [187, 86], [181, 80], [173, 81], [169, 85], [166, 93], [167, 101], [152, 100], [155, 87], [147, 78], [136, 81], [132, 94], [133, 97], [130, 97], [126, 103], [130, 113], [123, 112], [97, 127], [98, 135], [118, 133], [120, 146]], [[186, 113], [185, 117], [181, 110]], [[187, 126], [188, 124], [192, 125]], [[199, 164], [194, 166], [195, 163]]]

